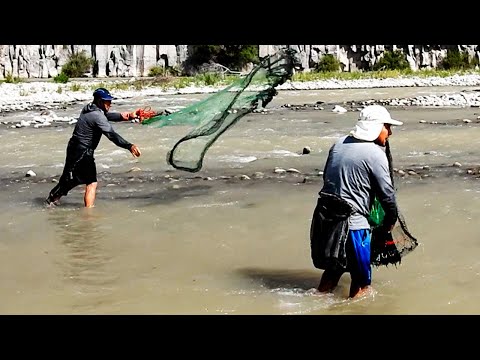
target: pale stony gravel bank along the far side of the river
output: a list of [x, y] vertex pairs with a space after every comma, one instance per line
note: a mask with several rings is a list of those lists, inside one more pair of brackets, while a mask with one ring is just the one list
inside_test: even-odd
[[[40, 107], [56, 108], [77, 102], [89, 101], [92, 98], [92, 89], [97, 86], [114, 85], [118, 82], [130, 81], [132, 87], [128, 90], [115, 90], [118, 99], [127, 99], [135, 96], [160, 96], [167, 94], [195, 94], [210, 93], [220, 90], [219, 87], [185, 87], [181, 89], [163, 89], [162, 87], [145, 87], [136, 89], [131, 80], [90, 80], [71, 81], [66, 84], [57, 84], [53, 81], [29, 81], [20, 83], [0, 84], [0, 114], [10, 111], [25, 111]], [[321, 90], [321, 89], [351, 89], [351, 88], [391, 88], [391, 87], [433, 87], [433, 86], [480, 86], [480, 75], [454, 75], [450, 77], [409, 77], [388, 79], [360, 79], [360, 80], [322, 80], [308, 82], [288, 81], [277, 87], [278, 90]], [[223, 88], [223, 87], [222, 87]], [[422, 105], [429, 99], [410, 99], [412, 105]], [[438, 99], [432, 101], [438, 102]], [[459, 96], [452, 99], [442, 99], [442, 104], [468, 106], [477, 105], [479, 94]], [[395, 104], [392, 104], [395, 105]]]

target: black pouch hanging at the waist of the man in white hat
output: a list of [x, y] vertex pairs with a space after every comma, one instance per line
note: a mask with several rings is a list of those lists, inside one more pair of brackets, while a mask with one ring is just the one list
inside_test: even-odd
[[348, 218], [355, 212], [338, 195], [320, 193], [310, 226], [310, 253], [317, 269], [347, 269]]

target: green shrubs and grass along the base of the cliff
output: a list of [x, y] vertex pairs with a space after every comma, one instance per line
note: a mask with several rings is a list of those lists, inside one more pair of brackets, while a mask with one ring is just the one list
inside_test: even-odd
[[[173, 67], [160, 65], [149, 69], [148, 77], [135, 81], [110, 82], [98, 85], [71, 86], [71, 91], [82, 91], [86, 87], [107, 87], [112, 91], [136, 89], [141, 90], [147, 87], [161, 87], [163, 90], [178, 90], [188, 86], [217, 86], [224, 87], [235, 81], [241, 72], [245, 73], [249, 64], [256, 64], [259, 61], [257, 45], [192, 45], [191, 55], [187, 59], [188, 66], [196, 68], [192, 75], [180, 76], [180, 70]], [[208, 66], [201, 70], [205, 64], [219, 64], [213, 71]], [[187, 64], [185, 64], [187, 65]], [[62, 67], [62, 72], [53, 80], [58, 83], [67, 83], [70, 78], [84, 77], [85, 73], [92, 70], [94, 61], [89, 58], [85, 51], [73, 53]], [[211, 69], [212, 70], [212, 69]], [[418, 70], [410, 69], [406, 55], [401, 50], [385, 51], [378, 62], [371, 70], [343, 72], [342, 64], [332, 54], [324, 55], [311, 72], [297, 72], [293, 75], [292, 81], [320, 81], [320, 80], [360, 80], [360, 79], [386, 79], [386, 78], [408, 78], [408, 77], [448, 77], [455, 74], [479, 74], [478, 60], [470, 59], [467, 53], [460, 53], [458, 50], [447, 50], [445, 58], [439, 63], [437, 69]], [[20, 79], [13, 78], [11, 74], [4, 82], [18, 82]]]

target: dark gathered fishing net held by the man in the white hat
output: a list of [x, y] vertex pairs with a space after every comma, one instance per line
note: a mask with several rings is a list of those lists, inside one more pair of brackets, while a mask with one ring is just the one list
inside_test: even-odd
[[[388, 158], [390, 177], [393, 183], [392, 153], [388, 141], [385, 151]], [[381, 226], [384, 215], [382, 206], [380, 202], [378, 202], [378, 199], [374, 201], [369, 219], [372, 222], [370, 263], [374, 266], [400, 264], [402, 257], [411, 253], [418, 245], [417, 239], [408, 230], [405, 217], [399, 208], [397, 210], [398, 221], [391, 232], [386, 232]]]

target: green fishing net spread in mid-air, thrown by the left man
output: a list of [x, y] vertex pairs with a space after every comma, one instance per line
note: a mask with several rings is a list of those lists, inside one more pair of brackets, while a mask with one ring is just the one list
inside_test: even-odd
[[265, 107], [277, 94], [275, 87], [290, 79], [298, 66], [298, 53], [281, 49], [223, 90], [175, 113], [145, 119], [142, 124], [195, 126], [167, 153], [167, 162], [176, 169], [197, 172], [215, 140], [244, 115], [258, 106]]

